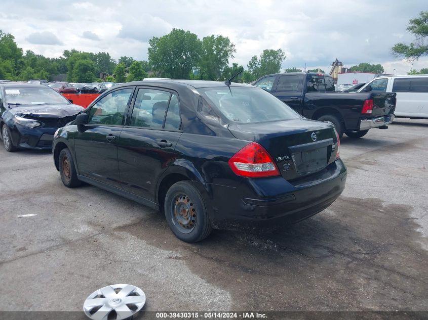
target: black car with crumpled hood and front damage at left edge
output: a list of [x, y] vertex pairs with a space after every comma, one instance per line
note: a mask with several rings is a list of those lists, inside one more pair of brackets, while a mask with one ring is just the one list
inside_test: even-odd
[[82, 110], [44, 85], [0, 83], [0, 138], [7, 151], [51, 149], [55, 131]]

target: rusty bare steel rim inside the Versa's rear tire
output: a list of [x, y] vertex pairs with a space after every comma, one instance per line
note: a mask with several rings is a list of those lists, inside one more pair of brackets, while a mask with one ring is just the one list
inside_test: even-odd
[[189, 196], [179, 194], [172, 203], [175, 221], [183, 233], [190, 233], [196, 224], [196, 208]]

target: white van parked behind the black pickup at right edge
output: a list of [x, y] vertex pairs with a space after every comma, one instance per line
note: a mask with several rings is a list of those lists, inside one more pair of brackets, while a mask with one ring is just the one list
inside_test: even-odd
[[377, 77], [358, 92], [395, 92], [396, 117], [428, 119], [428, 74]]

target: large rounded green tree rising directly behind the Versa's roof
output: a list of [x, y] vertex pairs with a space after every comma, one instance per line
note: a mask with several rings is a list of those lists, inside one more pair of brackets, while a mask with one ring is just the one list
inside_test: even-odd
[[172, 29], [162, 37], [151, 38], [148, 43], [148, 62], [154, 72], [164, 77], [189, 78], [199, 61], [201, 41], [190, 31]]

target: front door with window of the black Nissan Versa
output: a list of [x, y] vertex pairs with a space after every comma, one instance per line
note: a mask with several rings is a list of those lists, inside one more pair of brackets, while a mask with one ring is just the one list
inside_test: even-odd
[[74, 137], [81, 175], [121, 188], [117, 143], [134, 90], [134, 86], [116, 89], [88, 107], [88, 123]]

